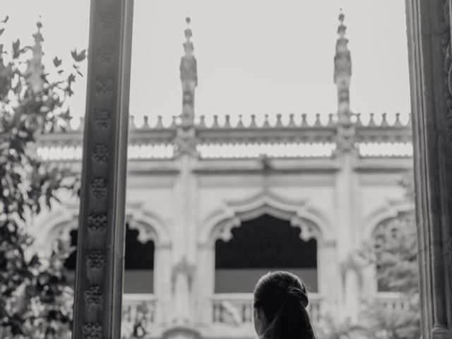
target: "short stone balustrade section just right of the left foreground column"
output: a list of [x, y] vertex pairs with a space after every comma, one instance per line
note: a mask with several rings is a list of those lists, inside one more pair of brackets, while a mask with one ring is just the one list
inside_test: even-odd
[[155, 324], [156, 304], [155, 295], [123, 295], [121, 338], [141, 338], [150, 333]]

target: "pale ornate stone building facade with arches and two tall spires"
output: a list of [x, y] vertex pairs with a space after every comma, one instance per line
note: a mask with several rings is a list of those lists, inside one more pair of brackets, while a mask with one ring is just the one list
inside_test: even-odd
[[[274, 269], [307, 282], [316, 323], [328, 314], [357, 321], [369, 299], [404, 307], [396, 292], [378, 290], [375, 268], [359, 253], [376, 227], [414, 208], [399, 184], [412, 169], [411, 122], [397, 114], [389, 124], [381, 114], [376, 124], [372, 114], [363, 124], [350, 111], [352, 62], [342, 13], [339, 20], [338, 111], [313, 124], [306, 114], [301, 123], [278, 114], [274, 124], [251, 116], [232, 126], [225, 116], [206, 125], [195, 115], [196, 58], [185, 30], [182, 114], [170, 126], [161, 117], [155, 126], [147, 117], [142, 126], [129, 121], [124, 333], [160, 338], [186, 328], [203, 338], [254, 338], [253, 284]], [[99, 86], [107, 95], [108, 83]], [[100, 110], [85, 128], [102, 133], [108, 121]], [[37, 151], [80, 172], [82, 128], [42, 136]], [[109, 157], [105, 144], [90, 152], [95, 162]], [[107, 184], [93, 185], [102, 198]], [[75, 244], [78, 214], [76, 199], [61, 196], [34, 222], [37, 249], [56, 239]], [[105, 227], [102, 213], [85, 217], [90, 232]]]

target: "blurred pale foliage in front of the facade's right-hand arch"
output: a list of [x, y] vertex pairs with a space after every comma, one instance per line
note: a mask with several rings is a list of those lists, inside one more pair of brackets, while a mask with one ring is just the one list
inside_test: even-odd
[[[408, 174], [400, 181], [404, 203], [414, 206], [414, 179]], [[398, 300], [379, 299], [364, 304], [358, 324], [335, 323], [326, 319], [322, 338], [328, 339], [419, 339], [420, 299], [417, 276], [415, 210], [399, 213], [382, 222], [374, 232], [374, 243], [359, 251], [367, 265], [376, 266], [380, 292], [394, 292]], [[396, 304], [396, 307], [393, 305]]]

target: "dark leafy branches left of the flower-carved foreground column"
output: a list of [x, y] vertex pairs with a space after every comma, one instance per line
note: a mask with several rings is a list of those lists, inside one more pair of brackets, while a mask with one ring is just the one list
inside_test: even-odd
[[[60, 189], [76, 185], [69, 172], [42, 162], [35, 152], [40, 134], [69, 123], [65, 101], [76, 81], [57, 57], [52, 74], [44, 73], [41, 28], [37, 23], [32, 46], [16, 40], [6, 52], [0, 44], [1, 338], [66, 338], [72, 316], [73, 292], [62, 265], [67, 252], [54, 246], [49, 258], [40, 258], [30, 253], [33, 239], [26, 232], [32, 215], [51, 208]], [[74, 67], [85, 54], [77, 57]]]

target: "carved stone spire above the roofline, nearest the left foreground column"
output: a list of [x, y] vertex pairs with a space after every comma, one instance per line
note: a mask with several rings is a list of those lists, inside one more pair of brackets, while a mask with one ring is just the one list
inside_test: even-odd
[[181, 82], [182, 82], [182, 127], [186, 128], [194, 125], [194, 102], [195, 88], [198, 85], [198, 72], [196, 71], [196, 58], [193, 51], [194, 46], [191, 42], [193, 35], [189, 27], [191, 19], [186, 19], [187, 28], [184, 31], [186, 41], [184, 42], [185, 54], [181, 58]]

